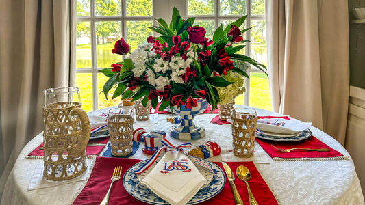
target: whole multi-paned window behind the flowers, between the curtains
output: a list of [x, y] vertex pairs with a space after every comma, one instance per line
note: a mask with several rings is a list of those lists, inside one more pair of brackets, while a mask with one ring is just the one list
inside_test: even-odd
[[[176, 6], [183, 18], [194, 16], [196, 23], [207, 30], [207, 37], [218, 25], [230, 23], [244, 14], [245, 39], [250, 39], [242, 54], [250, 55], [266, 65], [265, 0], [77, 0], [77, 39], [75, 86], [80, 88], [83, 109], [91, 111], [118, 105], [119, 99], [105, 100], [100, 94], [107, 80], [99, 73], [116, 61], [120, 55], [113, 55], [114, 42], [121, 37], [131, 45], [131, 51], [138, 44], [153, 35], [147, 27], [153, 18], [171, 19]], [[185, 16], [184, 16], [185, 15]], [[245, 81], [246, 92], [236, 98], [237, 104], [250, 105], [270, 110], [268, 79], [256, 68], [250, 72], [251, 79]]]

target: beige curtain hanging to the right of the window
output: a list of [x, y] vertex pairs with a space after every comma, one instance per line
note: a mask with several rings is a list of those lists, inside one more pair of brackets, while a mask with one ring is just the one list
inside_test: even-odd
[[268, 0], [273, 111], [322, 129], [342, 145], [349, 99], [347, 0]]

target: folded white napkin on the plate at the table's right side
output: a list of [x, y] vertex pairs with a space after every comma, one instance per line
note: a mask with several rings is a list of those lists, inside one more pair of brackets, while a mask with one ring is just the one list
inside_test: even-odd
[[257, 128], [270, 133], [294, 134], [310, 128], [312, 122], [286, 120], [283, 118], [257, 119]]

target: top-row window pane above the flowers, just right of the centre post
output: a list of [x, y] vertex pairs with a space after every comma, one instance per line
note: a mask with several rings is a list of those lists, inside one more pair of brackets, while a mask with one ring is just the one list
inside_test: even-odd
[[214, 0], [188, 0], [188, 15], [214, 15]]

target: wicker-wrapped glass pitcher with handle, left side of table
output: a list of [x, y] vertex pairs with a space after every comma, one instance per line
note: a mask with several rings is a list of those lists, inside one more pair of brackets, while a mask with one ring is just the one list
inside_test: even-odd
[[77, 87], [44, 91], [43, 176], [47, 180], [70, 180], [86, 171], [85, 149], [90, 137], [88, 115], [81, 109]]

